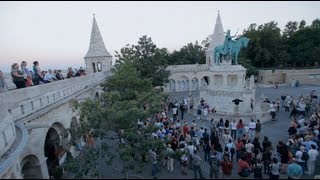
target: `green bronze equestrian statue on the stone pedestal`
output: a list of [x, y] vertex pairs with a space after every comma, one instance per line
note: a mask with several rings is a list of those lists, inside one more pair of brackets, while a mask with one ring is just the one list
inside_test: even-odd
[[224, 44], [214, 48], [214, 63], [220, 65], [222, 57], [230, 57], [231, 64], [238, 65], [238, 55], [242, 47], [247, 47], [250, 41], [249, 38], [241, 37], [237, 40], [232, 40], [235, 36], [230, 35], [230, 30], [227, 31]]

